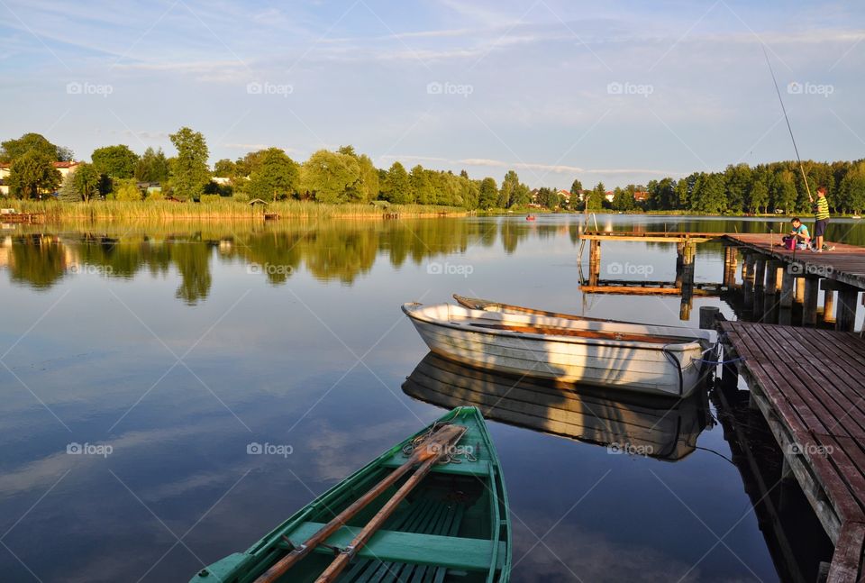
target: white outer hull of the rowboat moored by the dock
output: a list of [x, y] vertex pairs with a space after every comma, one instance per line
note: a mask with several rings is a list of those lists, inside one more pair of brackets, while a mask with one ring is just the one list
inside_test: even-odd
[[[671, 340], [669, 345], [651, 346], [638, 342], [502, 333], [451, 325], [450, 318], [437, 321], [434, 317], [423, 317], [425, 314], [418, 314], [411, 307], [404, 306], [404, 310], [430, 351], [481, 369], [666, 396], [687, 396], [701, 379], [699, 360], [704, 345], [700, 342], [682, 344]], [[486, 314], [486, 319], [508, 317], [508, 314], [481, 314]], [[533, 322], [538, 319], [531, 317]], [[607, 323], [581, 323], [585, 329], [603, 325]]]

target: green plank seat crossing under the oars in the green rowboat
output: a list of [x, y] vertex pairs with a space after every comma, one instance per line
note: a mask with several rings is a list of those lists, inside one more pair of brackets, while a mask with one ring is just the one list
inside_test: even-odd
[[[299, 543], [309, 539], [323, 526], [323, 523], [302, 523], [294, 531], [287, 533], [287, 536], [293, 542]], [[348, 545], [359, 532], [360, 527], [343, 526], [326, 542], [341, 548]], [[315, 552], [332, 554], [333, 551], [327, 547], [318, 547]], [[506, 552], [505, 542], [499, 542], [498, 557], [504, 558]], [[372, 535], [367, 545], [360, 548], [357, 557], [393, 563], [486, 571], [492, 563], [493, 542], [438, 534], [378, 531]]]

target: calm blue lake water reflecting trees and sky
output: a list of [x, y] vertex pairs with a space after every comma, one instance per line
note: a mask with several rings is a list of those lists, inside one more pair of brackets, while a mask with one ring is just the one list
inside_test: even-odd
[[[678, 323], [678, 297], [581, 295], [578, 221], [3, 231], [0, 578], [186, 581], [441, 416], [403, 390], [427, 352], [403, 302], [458, 292]], [[863, 229], [839, 221], [829, 238], [865, 244]], [[624, 266], [617, 278], [675, 278], [670, 245], [603, 249], [605, 266]], [[720, 246], [701, 245], [697, 281], [719, 281], [722, 263]], [[695, 325], [700, 305], [733, 317], [722, 300], [697, 297]], [[778, 580], [714, 413], [688, 414], [705, 429], [675, 461], [490, 421], [514, 580]], [[291, 453], [249, 455], [251, 442]], [[75, 443], [87, 451], [68, 453]]]

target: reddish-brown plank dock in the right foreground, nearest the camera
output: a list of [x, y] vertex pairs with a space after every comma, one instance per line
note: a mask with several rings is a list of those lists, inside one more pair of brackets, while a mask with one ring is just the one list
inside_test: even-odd
[[[835, 550], [828, 581], [865, 575], [865, 340], [850, 332], [720, 324], [724, 384], [742, 374]], [[739, 360], [736, 360], [739, 359]], [[780, 482], [778, 482], [779, 484]], [[774, 486], [777, 486], [773, 485]]]

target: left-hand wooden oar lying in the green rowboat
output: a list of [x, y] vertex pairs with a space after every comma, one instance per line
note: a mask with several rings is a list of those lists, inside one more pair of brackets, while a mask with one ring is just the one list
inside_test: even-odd
[[[410, 469], [414, 468], [416, 464], [423, 463], [421, 468], [425, 468], [426, 473], [428, 473], [429, 470], [432, 469], [432, 464], [441, 459], [442, 455], [447, 452], [448, 446], [460, 441], [460, 437], [462, 437], [463, 433], [466, 433], [466, 428], [464, 426], [453, 424], [445, 425], [442, 429], [432, 433], [428, 439], [420, 443], [420, 445], [414, 450], [412, 456], [406, 460], [402, 466], [388, 474], [387, 478], [378, 482], [378, 484], [372, 487], [369, 492], [360, 496], [360, 498], [355, 500], [351, 506], [343, 510], [339, 515], [334, 516], [329, 523], [324, 524], [318, 532], [314, 533], [314, 535], [309, 537], [309, 539], [307, 539], [303, 544], [293, 549], [285, 557], [278, 560], [278, 562], [274, 563], [270, 569], [262, 573], [259, 578], [255, 579], [255, 583], [273, 583], [273, 581], [282, 577], [282, 575], [284, 575], [288, 569], [291, 569], [298, 560], [303, 559], [307, 554], [312, 552], [315, 547], [326, 541], [332, 533], [335, 533], [342, 526], [345, 526], [345, 524], [351, 520], [352, 516], [357, 515], [361, 509], [368, 506], [370, 502], [378, 498], [382, 492], [393, 485], [396, 480], [402, 478]], [[420, 469], [418, 471], [420, 471]], [[415, 474], [415, 476], [416, 475], [417, 474]], [[413, 480], [414, 476], [405, 482], [405, 485], [413, 483], [412, 487], [414, 487], [417, 485], [417, 482], [420, 481], [415, 480], [413, 482]], [[396, 495], [391, 499], [391, 501], [396, 499], [396, 496], [403, 492], [405, 485], [396, 492]], [[409, 488], [409, 490], [411, 490], [411, 488]], [[408, 494], [409, 490], [406, 490], [405, 493], [403, 493], [403, 497]], [[400, 498], [400, 501], [401, 500], [402, 498]], [[390, 503], [388, 502], [388, 504]], [[385, 507], [387, 507], [387, 505]], [[384, 510], [384, 508], [382, 508], [382, 510]], [[391, 512], [393, 511], [391, 510]], [[380, 513], [381, 511], [379, 511], [379, 514]], [[376, 515], [376, 517], [378, 517], [378, 515]], [[373, 520], [375, 520], [375, 518]], [[378, 526], [376, 528], [378, 528]]]

